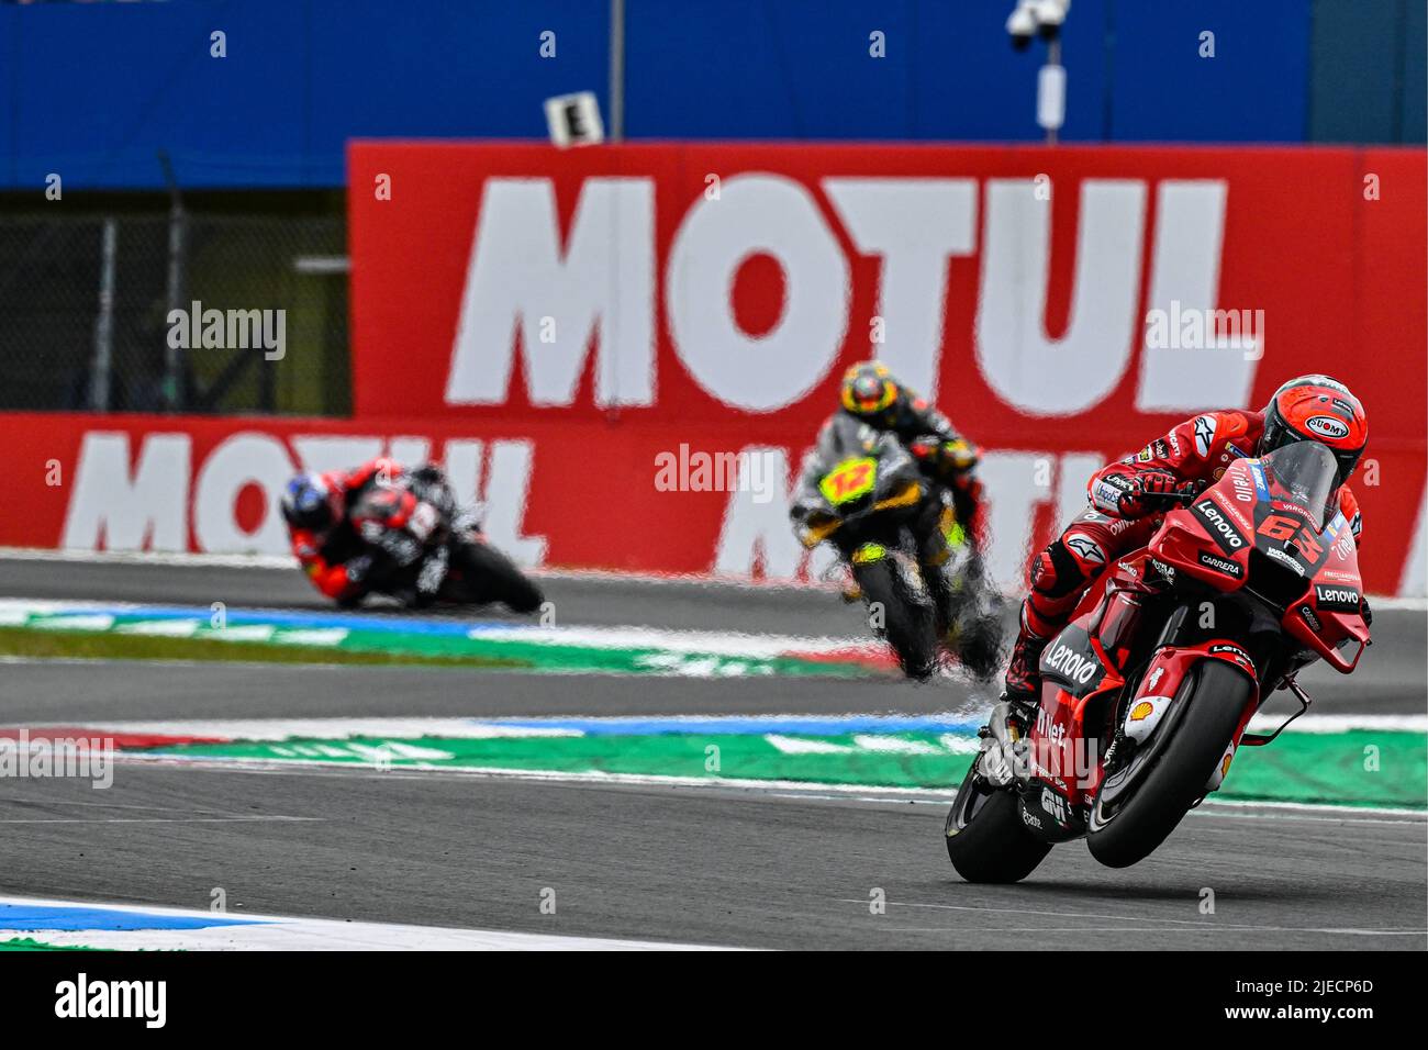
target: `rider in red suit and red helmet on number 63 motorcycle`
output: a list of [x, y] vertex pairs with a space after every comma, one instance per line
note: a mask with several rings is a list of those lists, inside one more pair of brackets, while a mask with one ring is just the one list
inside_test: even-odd
[[[1368, 443], [1368, 417], [1348, 387], [1328, 376], [1291, 379], [1262, 411], [1207, 411], [1188, 419], [1091, 476], [1091, 506], [1031, 564], [1031, 589], [1007, 667], [1005, 707], [998, 709], [1017, 737], [1030, 730], [1040, 704], [1041, 650], [1105, 567], [1144, 547], [1170, 506], [1214, 484], [1234, 459], [1267, 456], [1294, 441], [1318, 441], [1334, 453], [1338, 506], [1358, 541], [1362, 517], [1347, 480]], [[1369, 619], [1367, 601], [1364, 619]]]

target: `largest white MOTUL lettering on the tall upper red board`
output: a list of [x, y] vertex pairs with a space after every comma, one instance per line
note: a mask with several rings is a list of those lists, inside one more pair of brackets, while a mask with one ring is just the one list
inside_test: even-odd
[[[743, 173], [724, 177], [717, 196], [695, 197], [663, 250], [658, 193], [648, 177], [587, 179], [563, 223], [554, 180], [484, 180], [444, 403], [506, 403], [520, 359], [533, 406], [575, 403], [587, 370], [597, 406], [654, 406], [661, 316], [683, 370], [718, 404], [745, 413], [800, 401], [860, 340], [935, 396], [950, 326], [970, 326], [982, 380], [1020, 411], [1094, 409], [1137, 354], [1137, 410], [1247, 403], [1251, 356], [1218, 353], [1208, 367], [1204, 354], [1147, 346], [1141, 310], [1142, 284], [1160, 309], [1217, 307], [1222, 180], [1062, 187]], [[1051, 336], [1044, 317], [1055, 209], [1074, 209], [1078, 220], [1068, 321]], [[740, 321], [735, 287], [757, 256], [774, 260], [781, 289], [750, 293], [780, 296], [773, 326], [753, 333]], [[865, 271], [854, 269], [860, 257], [877, 261], [873, 289], [855, 280]], [[950, 317], [952, 263], [974, 257], [975, 276], [958, 273], [977, 281], [975, 317]], [[875, 324], [863, 329], [854, 303], [868, 291]]]

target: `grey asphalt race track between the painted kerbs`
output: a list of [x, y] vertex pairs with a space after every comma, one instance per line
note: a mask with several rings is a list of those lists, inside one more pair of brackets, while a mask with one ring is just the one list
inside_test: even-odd
[[[571, 624], [858, 636], [858, 610], [794, 590], [547, 579]], [[320, 609], [296, 571], [0, 561], [0, 596]], [[374, 616], [381, 616], [374, 611]], [[1315, 710], [1422, 714], [1425, 614], [1384, 610]], [[261, 717], [931, 713], [955, 684], [527, 676], [244, 664], [0, 667], [0, 723]], [[1150, 860], [1058, 847], [1014, 887], [947, 863], [945, 797], [565, 783], [368, 769], [124, 766], [0, 781], [0, 894], [234, 913], [780, 949], [1422, 949], [1419, 816], [1254, 806], [1192, 813]], [[1202, 914], [1205, 889], [1215, 910]], [[558, 899], [541, 914], [543, 890]], [[885, 894], [885, 913], [870, 894]]]

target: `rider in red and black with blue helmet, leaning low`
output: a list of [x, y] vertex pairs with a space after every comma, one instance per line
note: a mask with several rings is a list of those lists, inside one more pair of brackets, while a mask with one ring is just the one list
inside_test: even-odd
[[[401, 486], [414, 497], [410, 509], [386, 521], [396, 529], [374, 530], [378, 543], [393, 550], [374, 550], [361, 534], [361, 520], [353, 517], [361, 497], [378, 486]], [[383, 556], [398, 563], [416, 557], [440, 514], [454, 513], [448, 503], [450, 490], [437, 467], [408, 471], [394, 460], [378, 457], [354, 470], [298, 474], [288, 481], [281, 506], [293, 554], [308, 580], [327, 597], [348, 606], [361, 601], [378, 584], [376, 577]], [[410, 550], [398, 549], [404, 541]]]

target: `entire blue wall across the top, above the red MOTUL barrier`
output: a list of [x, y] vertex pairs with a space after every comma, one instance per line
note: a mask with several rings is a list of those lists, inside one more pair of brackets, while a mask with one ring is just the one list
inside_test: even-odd
[[[1362, 129], [1359, 140], [1421, 141], [1421, 7], [1075, 0], [1062, 139], [1302, 141]], [[1010, 10], [627, 0], [625, 130], [1035, 140], [1044, 47], [1012, 51]], [[226, 59], [208, 54], [213, 30], [227, 33]], [[538, 54], [544, 30], [554, 59]], [[874, 30], [884, 59], [868, 54]], [[1200, 56], [1207, 30], [1214, 59]], [[548, 96], [593, 89], [604, 103], [607, 47], [605, 0], [0, 6], [0, 187], [41, 189], [59, 171], [67, 187], [154, 189], [159, 150], [187, 187], [340, 186], [354, 136], [543, 139]]]

